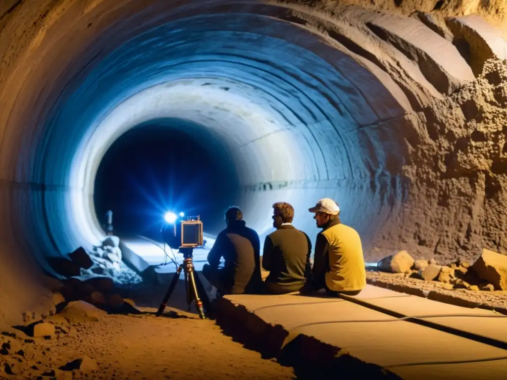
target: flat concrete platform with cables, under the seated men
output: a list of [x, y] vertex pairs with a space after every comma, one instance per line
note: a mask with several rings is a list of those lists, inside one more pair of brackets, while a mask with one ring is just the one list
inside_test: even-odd
[[[476, 312], [373, 286], [368, 286], [354, 298], [362, 298], [362, 301], [380, 303], [405, 312], [411, 311], [410, 305], [413, 303], [415, 307], [412, 311], [421, 312], [420, 314], [427, 314], [428, 311], [422, 310], [424, 301], [431, 302], [432, 314], [446, 314], [450, 311], [464, 314]], [[319, 352], [318, 355], [315, 353], [316, 356], [325, 356], [327, 360], [333, 361], [337, 358], [337, 354], [340, 358], [344, 356], [343, 354], [348, 354], [345, 356], [356, 360], [355, 365], [370, 363], [375, 368], [387, 368], [391, 373], [406, 379], [444, 377], [496, 379], [507, 376], [507, 367], [502, 367], [507, 363], [507, 350], [439, 329], [399, 320], [348, 299], [296, 294], [231, 295], [224, 297], [221, 302], [228, 304], [226, 313], [229, 317], [236, 314], [235, 324], [242, 325], [241, 328], [245, 330], [251, 329], [251, 333], [258, 341], [266, 340], [270, 344], [283, 342], [278, 348], [276, 354], [278, 357], [283, 356], [284, 350], [287, 351], [291, 343], [303, 336], [316, 342], [317, 346], [311, 345], [312, 347], [319, 347], [318, 345], [327, 347], [312, 349]], [[491, 312], [486, 310], [478, 312], [481, 315], [488, 313]], [[441, 318], [450, 317], [438, 319]], [[483, 324], [477, 319], [466, 318], [468, 324], [459, 325], [464, 331], [470, 326]], [[455, 323], [449, 320], [449, 323], [451, 322]], [[486, 329], [483, 331], [492, 332]], [[302, 345], [310, 346], [308, 341]], [[276, 352], [272, 348], [270, 350]], [[291, 355], [294, 355], [294, 352], [304, 351], [304, 348], [291, 350]], [[294, 362], [305, 360], [310, 359], [301, 354]], [[467, 362], [473, 364], [462, 364]], [[463, 366], [474, 369], [467, 372], [463, 370]], [[425, 371], [424, 374], [422, 370]]]

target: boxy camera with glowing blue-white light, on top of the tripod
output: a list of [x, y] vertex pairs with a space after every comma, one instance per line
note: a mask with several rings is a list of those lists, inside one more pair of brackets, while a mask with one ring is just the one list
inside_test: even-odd
[[[167, 212], [161, 233], [164, 243], [172, 249], [179, 249], [184, 254], [204, 243], [203, 223], [200, 216], [185, 216], [183, 212], [176, 215]], [[179, 228], [178, 228], [179, 224]]]

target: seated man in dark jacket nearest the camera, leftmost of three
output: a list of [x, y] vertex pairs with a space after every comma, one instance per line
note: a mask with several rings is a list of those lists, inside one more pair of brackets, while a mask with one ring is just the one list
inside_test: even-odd
[[[259, 235], [246, 227], [237, 207], [227, 210], [225, 220], [227, 227], [216, 237], [202, 274], [222, 294], [256, 293], [262, 286]], [[222, 256], [225, 265], [219, 269]]]

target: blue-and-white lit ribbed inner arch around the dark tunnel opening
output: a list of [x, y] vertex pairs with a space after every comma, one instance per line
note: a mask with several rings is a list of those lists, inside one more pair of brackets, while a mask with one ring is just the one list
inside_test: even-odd
[[[125, 41], [92, 66], [63, 91], [53, 89], [58, 101], [44, 109], [37, 120], [43, 132], [21, 158], [30, 170], [17, 173], [25, 176], [20, 182], [55, 186], [35, 223], [46, 225], [38, 231], [51, 240], [47, 252], [89, 247], [103, 235], [92, 205], [97, 166], [118, 136], [153, 118], [186, 119], [223, 136], [245, 188], [240, 206], [261, 235], [279, 199], [303, 211], [296, 221], [314, 235], [304, 210], [325, 195], [342, 200], [345, 220], [368, 220], [358, 225], [365, 230], [366, 210], [373, 216], [381, 208], [368, 195], [371, 176], [389, 175], [403, 162], [401, 146], [386, 153], [368, 130], [403, 116], [404, 107], [367, 68], [299, 25], [242, 9], [187, 14]], [[395, 95], [406, 101], [401, 91]], [[386, 155], [396, 156], [397, 168], [385, 168]], [[362, 215], [350, 207], [360, 188], [372, 201]]]

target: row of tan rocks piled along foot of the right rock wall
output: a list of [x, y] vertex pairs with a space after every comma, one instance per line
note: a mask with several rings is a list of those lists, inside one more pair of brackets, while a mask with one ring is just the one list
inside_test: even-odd
[[507, 255], [488, 249], [483, 249], [473, 264], [461, 259], [440, 264], [435, 259], [414, 259], [407, 251], [400, 251], [380, 260], [377, 269], [423, 281], [439, 281], [449, 290], [507, 291]]

